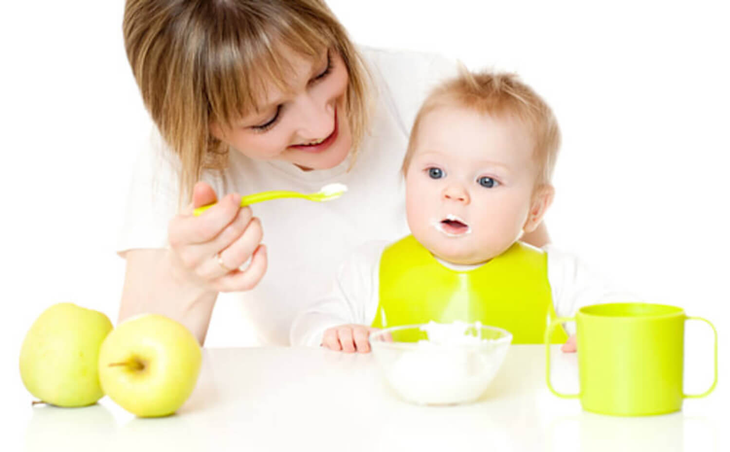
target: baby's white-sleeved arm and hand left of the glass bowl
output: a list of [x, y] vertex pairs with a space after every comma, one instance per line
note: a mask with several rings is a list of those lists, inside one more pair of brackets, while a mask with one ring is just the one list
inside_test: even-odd
[[387, 242], [367, 243], [340, 265], [331, 287], [294, 319], [292, 345], [369, 351], [368, 326], [377, 311], [380, 254]]

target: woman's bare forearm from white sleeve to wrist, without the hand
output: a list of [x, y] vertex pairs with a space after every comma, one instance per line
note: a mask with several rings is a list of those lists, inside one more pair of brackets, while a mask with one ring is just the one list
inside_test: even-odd
[[119, 322], [158, 313], [185, 325], [202, 345], [218, 292], [176, 276], [169, 249], [131, 249], [126, 261]]

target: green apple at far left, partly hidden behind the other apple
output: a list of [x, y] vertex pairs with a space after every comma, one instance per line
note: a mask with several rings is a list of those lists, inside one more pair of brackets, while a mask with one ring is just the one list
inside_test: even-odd
[[59, 407], [92, 405], [104, 396], [99, 384], [99, 347], [112, 322], [73, 303], [47, 308], [20, 348], [20, 378], [42, 402]]

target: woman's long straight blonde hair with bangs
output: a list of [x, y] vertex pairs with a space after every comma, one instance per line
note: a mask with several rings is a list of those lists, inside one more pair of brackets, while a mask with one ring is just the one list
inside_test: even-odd
[[[315, 61], [338, 52], [349, 74], [353, 155], [366, 130], [367, 71], [322, 0], [127, 0], [127, 58], [150, 116], [180, 157], [180, 202], [203, 168], [224, 168], [228, 147], [210, 133], [256, 111], [269, 83], [287, 90], [293, 50]], [[291, 58], [291, 57], [290, 57]]]

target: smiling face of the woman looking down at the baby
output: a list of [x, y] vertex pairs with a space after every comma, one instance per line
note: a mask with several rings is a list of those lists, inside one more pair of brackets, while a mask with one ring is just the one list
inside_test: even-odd
[[323, 52], [314, 63], [290, 52], [291, 92], [269, 86], [259, 112], [211, 133], [255, 160], [283, 160], [300, 168], [325, 169], [345, 160], [352, 146], [345, 95], [349, 74], [340, 55]]

